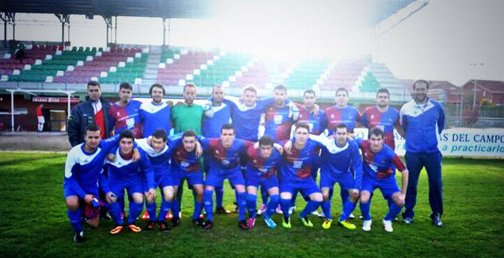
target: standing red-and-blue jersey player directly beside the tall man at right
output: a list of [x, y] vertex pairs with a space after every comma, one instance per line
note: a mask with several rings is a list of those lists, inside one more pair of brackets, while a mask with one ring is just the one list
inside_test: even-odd
[[359, 122], [368, 128], [368, 132], [375, 127], [384, 131], [384, 143], [395, 150], [394, 128], [399, 135], [404, 136], [404, 132], [399, 123], [399, 111], [388, 103], [390, 93], [386, 88], [379, 89], [376, 94], [376, 105], [366, 108]]

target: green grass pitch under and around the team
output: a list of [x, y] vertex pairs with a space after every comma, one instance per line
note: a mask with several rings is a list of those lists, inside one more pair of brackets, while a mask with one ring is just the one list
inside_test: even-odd
[[[312, 218], [305, 228], [294, 215], [290, 230], [267, 228], [258, 219], [253, 230], [237, 227], [236, 215], [216, 215], [211, 231], [190, 223], [192, 195], [183, 198], [183, 221], [170, 232], [121, 232], [111, 236], [111, 221], [74, 244], [66, 217], [62, 180], [65, 155], [0, 152], [0, 257], [503, 257], [504, 161], [444, 159], [444, 227], [431, 226], [426, 174], [422, 172], [415, 223], [381, 228], [386, 202], [375, 195], [371, 232], [333, 226]], [[400, 177], [400, 176], [399, 176]], [[226, 183], [226, 187], [228, 187]], [[338, 192], [339, 189], [336, 189]], [[186, 191], [187, 193], [187, 191]], [[337, 195], [336, 195], [337, 196]], [[233, 208], [226, 188], [224, 204]], [[334, 215], [341, 201], [333, 200]], [[299, 207], [303, 207], [298, 198]], [[359, 209], [354, 212], [359, 214]], [[145, 221], [139, 221], [140, 226]]]

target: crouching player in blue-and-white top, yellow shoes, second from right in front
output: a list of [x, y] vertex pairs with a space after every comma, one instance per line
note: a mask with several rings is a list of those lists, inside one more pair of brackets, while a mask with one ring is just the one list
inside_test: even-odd
[[[335, 139], [329, 139], [324, 135], [310, 135], [323, 144], [321, 155], [321, 189], [323, 195], [322, 210], [325, 221], [322, 228], [328, 229], [332, 224], [331, 199], [329, 191], [334, 188], [334, 183], [338, 182], [341, 189], [348, 191], [350, 196], [344, 200], [343, 212], [339, 217], [339, 224], [348, 229], [354, 229], [355, 225], [347, 221], [348, 216], [355, 208], [355, 203], [359, 199], [359, 189], [362, 181], [362, 161], [359, 153], [359, 146], [356, 141], [348, 138], [348, 130], [345, 124], [336, 126]], [[355, 174], [352, 175], [352, 171]]]

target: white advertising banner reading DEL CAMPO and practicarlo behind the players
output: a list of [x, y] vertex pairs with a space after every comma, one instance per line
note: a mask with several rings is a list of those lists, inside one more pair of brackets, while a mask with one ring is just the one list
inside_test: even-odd
[[[368, 129], [355, 128], [354, 136], [367, 139]], [[404, 156], [404, 138], [394, 130], [395, 152]], [[504, 128], [449, 128], [438, 135], [442, 155], [504, 158]]]

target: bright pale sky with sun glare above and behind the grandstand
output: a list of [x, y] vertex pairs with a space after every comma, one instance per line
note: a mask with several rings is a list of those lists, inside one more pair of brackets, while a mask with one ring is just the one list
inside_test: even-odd
[[[216, 19], [172, 19], [170, 44], [220, 47], [278, 59], [374, 53], [375, 60], [386, 63], [402, 79], [449, 80], [458, 86], [473, 78], [504, 81], [501, 0], [431, 0], [382, 35], [378, 44], [363, 22], [354, 19], [357, 1], [289, 1], [288, 6], [274, 1], [221, 3]], [[16, 39], [61, 40], [61, 25], [53, 14], [17, 14], [16, 19]], [[161, 19], [119, 17], [117, 41], [161, 45], [162, 28]], [[101, 17], [71, 16], [73, 46], [105, 46], [105, 37]]]

